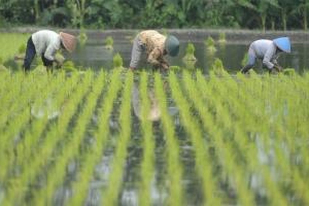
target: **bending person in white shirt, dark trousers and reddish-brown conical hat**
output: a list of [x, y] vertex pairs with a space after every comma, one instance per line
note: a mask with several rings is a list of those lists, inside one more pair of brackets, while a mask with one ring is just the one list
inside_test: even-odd
[[29, 71], [31, 62], [37, 54], [41, 56], [44, 66], [51, 67], [53, 61], [61, 66], [62, 62], [55, 58], [55, 53], [60, 48], [64, 48], [69, 52], [75, 49], [76, 38], [73, 35], [50, 30], [41, 30], [33, 33], [27, 42], [26, 56], [23, 63], [25, 71]]

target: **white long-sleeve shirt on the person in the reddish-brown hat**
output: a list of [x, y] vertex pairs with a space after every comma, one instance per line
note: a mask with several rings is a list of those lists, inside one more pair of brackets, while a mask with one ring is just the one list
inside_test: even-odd
[[50, 30], [41, 30], [32, 34], [32, 41], [36, 48], [36, 54], [50, 61], [55, 59], [55, 53], [60, 49], [61, 40], [59, 34]]

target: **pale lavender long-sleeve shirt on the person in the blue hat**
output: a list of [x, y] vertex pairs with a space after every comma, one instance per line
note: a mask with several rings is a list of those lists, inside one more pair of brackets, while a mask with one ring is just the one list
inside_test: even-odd
[[249, 49], [253, 50], [257, 58], [262, 59], [263, 64], [266, 65], [267, 68], [271, 69], [274, 63], [277, 63], [277, 46], [272, 40], [256, 40], [252, 42]]

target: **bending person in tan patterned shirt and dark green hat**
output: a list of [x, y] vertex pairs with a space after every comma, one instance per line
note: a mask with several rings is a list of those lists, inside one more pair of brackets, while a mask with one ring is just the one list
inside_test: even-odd
[[169, 65], [163, 56], [176, 56], [179, 52], [179, 41], [175, 36], [165, 37], [154, 30], [140, 32], [133, 42], [130, 69], [137, 68], [144, 51], [147, 53], [148, 63], [168, 69]]

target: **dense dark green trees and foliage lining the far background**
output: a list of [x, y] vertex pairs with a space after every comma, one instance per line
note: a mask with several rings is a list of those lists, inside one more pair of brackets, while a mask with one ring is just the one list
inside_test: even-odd
[[0, 27], [307, 30], [308, 0], [0, 0]]

